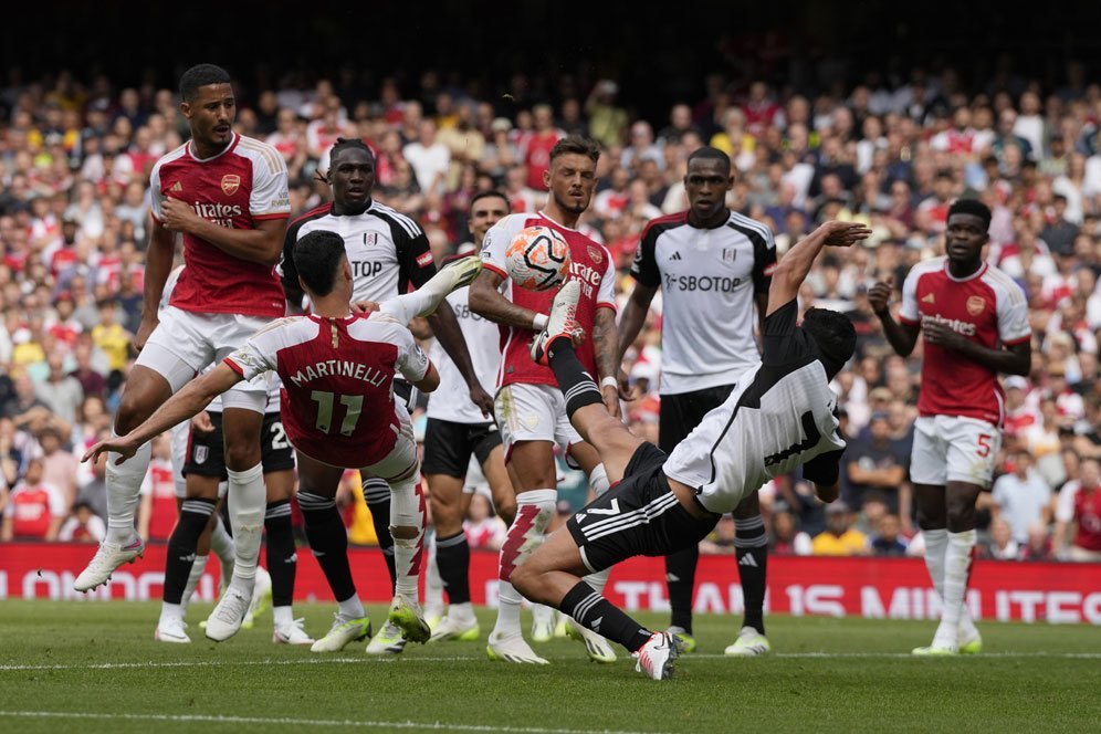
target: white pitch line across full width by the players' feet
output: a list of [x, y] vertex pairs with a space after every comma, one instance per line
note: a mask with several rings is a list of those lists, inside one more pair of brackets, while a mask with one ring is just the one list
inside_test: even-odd
[[[766, 658], [791, 659], [863, 659], [863, 660], [926, 660], [909, 652], [770, 652]], [[983, 652], [977, 656], [961, 656], [962, 658], [1056, 658], [1059, 660], [1101, 660], [1101, 652]], [[681, 660], [728, 660], [731, 656], [721, 652], [692, 652], [681, 657]], [[146, 662], [101, 662], [101, 663], [59, 663], [54, 665], [0, 664], [0, 672], [22, 670], [153, 670], [157, 668], [233, 668], [254, 665], [371, 665], [371, 664], [409, 664], [415, 662], [484, 662], [475, 656], [450, 657], [408, 657], [408, 658], [291, 658], [275, 660], [175, 660]]]

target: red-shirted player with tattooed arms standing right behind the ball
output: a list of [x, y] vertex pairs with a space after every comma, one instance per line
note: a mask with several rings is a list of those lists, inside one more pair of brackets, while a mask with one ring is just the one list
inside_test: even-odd
[[[513, 569], [543, 543], [554, 515], [557, 500], [554, 444], [567, 451], [588, 474], [594, 492], [599, 495], [608, 489], [599, 454], [569, 424], [554, 373], [533, 363], [528, 354], [535, 333], [546, 326], [554, 291], [537, 293], [513, 287], [505, 270], [505, 250], [524, 228], [549, 227], [566, 239], [570, 277], [579, 281], [581, 289], [576, 321], [587, 337], [577, 355], [589, 374], [601, 380], [605, 405], [618, 418], [615, 265], [607, 249], [575, 229], [593, 198], [599, 157], [597, 145], [585, 138], [572, 136], [555, 144], [550, 167], [544, 176], [544, 184], [550, 190], [546, 208], [536, 213], [505, 217], [486, 232], [482, 245], [484, 270], [470, 287], [471, 310], [501, 326], [502, 364], [494, 407], [505, 445], [505, 464], [516, 489], [516, 516], [501, 548], [497, 622], [486, 648], [494, 660], [546, 663], [524, 640], [520, 629], [521, 597], [508, 579]], [[587, 580], [601, 591], [607, 570]], [[591, 659], [616, 660], [615, 651], [602, 637], [576, 625], [573, 629], [584, 640]]]

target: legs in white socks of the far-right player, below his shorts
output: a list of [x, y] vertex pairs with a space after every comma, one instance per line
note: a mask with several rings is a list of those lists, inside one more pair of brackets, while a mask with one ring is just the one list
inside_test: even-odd
[[977, 484], [958, 481], [947, 486], [914, 485], [925, 565], [943, 605], [932, 644], [915, 648], [914, 654], [982, 650], [982, 637], [964, 604], [975, 548], [975, 502], [982, 491]]

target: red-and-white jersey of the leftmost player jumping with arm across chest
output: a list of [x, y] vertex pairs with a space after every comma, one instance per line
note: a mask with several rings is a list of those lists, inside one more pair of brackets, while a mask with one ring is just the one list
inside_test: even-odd
[[[153, 167], [153, 218], [165, 199], [186, 201], [203, 219], [231, 229], [254, 229], [291, 213], [286, 162], [275, 148], [234, 134], [212, 158], [199, 159], [187, 143]], [[187, 268], [169, 304], [184, 311], [277, 318], [286, 313], [275, 268], [234, 258], [191, 234], [184, 235]]]

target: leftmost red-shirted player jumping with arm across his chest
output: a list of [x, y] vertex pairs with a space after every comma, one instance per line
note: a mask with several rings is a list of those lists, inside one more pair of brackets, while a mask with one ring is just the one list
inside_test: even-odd
[[[200, 64], [180, 77], [180, 112], [191, 140], [157, 161], [150, 174], [153, 224], [146, 256], [145, 307], [135, 345], [140, 349], [115, 416], [129, 432], [203, 367], [226, 357], [261, 326], [285, 313], [275, 274], [290, 214], [286, 165], [265, 143], [233, 132], [237, 106], [229, 75]], [[187, 268], [158, 316], [176, 249]], [[265, 492], [260, 430], [266, 378], [226, 396], [226, 464], [237, 546], [233, 580], [207, 620], [207, 637], [240, 629], [255, 584]], [[105, 584], [119, 565], [141, 555], [134, 510], [149, 449], [120, 466], [107, 464], [107, 537], [76, 590]]]

